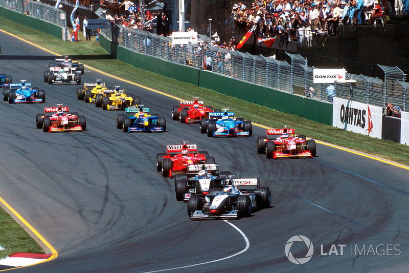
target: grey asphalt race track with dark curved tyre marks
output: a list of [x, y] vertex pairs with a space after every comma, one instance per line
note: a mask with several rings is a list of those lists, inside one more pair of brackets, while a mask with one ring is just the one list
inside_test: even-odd
[[[208, 138], [198, 124], [171, 119], [176, 99], [86, 69], [83, 82], [120, 85], [166, 117], [166, 133], [124, 133], [116, 128], [122, 112], [77, 100], [78, 86], [43, 82], [55, 56], [4, 33], [0, 41], [0, 73], [44, 89], [47, 100], [0, 102], [0, 196], [58, 251], [57, 259], [18, 271], [407, 271], [408, 169], [323, 144], [313, 159], [266, 159], [256, 151], [265, 129], [254, 126], [249, 138]], [[85, 115], [87, 130], [36, 129], [35, 115], [57, 103]], [[187, 204], [175, 199], [173, 179], [155, 166], [156, 153], [185, 140], [209, 151], [222, 171], [260, 177], [271, 189], [272, 206], [228, 222], [191, 221]], [[314, 246], [302, 265], [285, 254], [296, 235]], [[343, 255], [338, 245], [346, 245]], [[296, 258], [308, 250], [303, 242], [290, 249]], [[210, 263], [196, 265], [203, 262]], [[190, 267], [168, 270], [183, 266]]]

